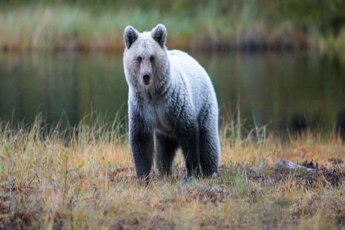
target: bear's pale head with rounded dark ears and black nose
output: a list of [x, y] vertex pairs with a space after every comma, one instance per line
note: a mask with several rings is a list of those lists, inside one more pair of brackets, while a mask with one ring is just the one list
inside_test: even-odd
[[167, 77], [166, 39], [167, 29], [163, 24], [142, 33], [131, 26], [125, 28], [124, 69], [126, 80], [135, 90], [157, 89]]

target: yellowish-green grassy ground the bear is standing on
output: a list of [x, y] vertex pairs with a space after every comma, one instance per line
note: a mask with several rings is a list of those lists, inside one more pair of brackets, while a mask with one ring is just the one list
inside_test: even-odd
[[[186, 178], [179, 153], [172, 175], [154, 174], [146, 186], [119, 122], [49, 133], [41, 124], [38, 117], [31, 127], [0, 125], [1, 229], [345, 226], [345, 146], [335, 137], [282, 143], [257, 129], [241, 138], [240, 126], [228, 122], [218, 176]], [[278, 159], [313, 160], [319, 173], [280, 169]]]

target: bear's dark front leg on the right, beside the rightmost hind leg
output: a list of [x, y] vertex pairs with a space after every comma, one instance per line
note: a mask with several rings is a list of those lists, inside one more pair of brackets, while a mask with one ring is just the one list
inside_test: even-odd
[[188, 177], [200, 175], [199, 126], [195, 120], [184, 120], [179, 124], [178, 134], [186, 161]]

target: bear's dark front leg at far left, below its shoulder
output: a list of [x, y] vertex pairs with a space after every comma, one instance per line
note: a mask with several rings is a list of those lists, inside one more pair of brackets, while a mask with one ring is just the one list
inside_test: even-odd
[[152, 127], [145, 121], [138, 109], [129, 108], [129, 142], [134, 158], [137, 176], [148, 179], [151, 171], [154, 139]]

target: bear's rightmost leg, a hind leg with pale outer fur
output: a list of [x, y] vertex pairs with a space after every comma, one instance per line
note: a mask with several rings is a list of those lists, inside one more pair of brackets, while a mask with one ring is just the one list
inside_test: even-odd
[[218, 173], [220, 158], [218, 125], [208, 126], [208, 122], [201, 124], [199, 128], [200, 166], [206, 177]]

